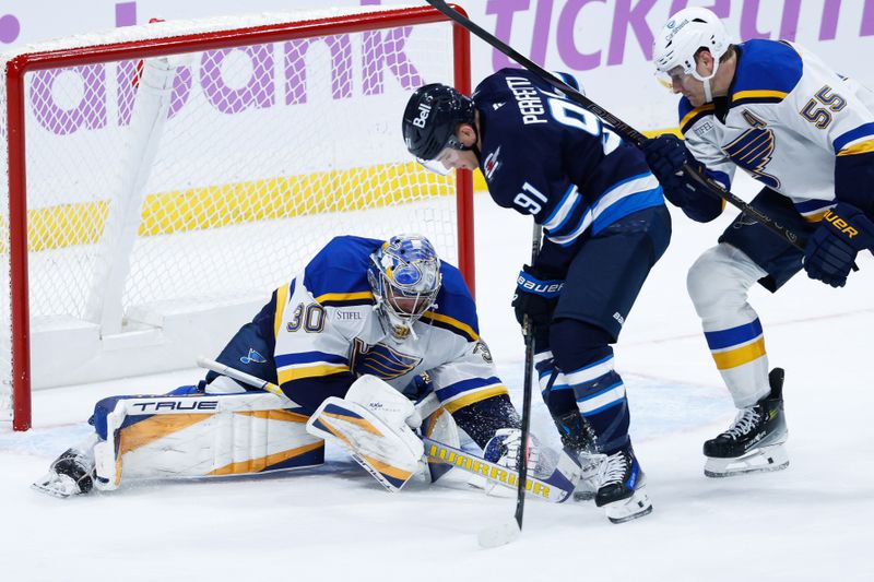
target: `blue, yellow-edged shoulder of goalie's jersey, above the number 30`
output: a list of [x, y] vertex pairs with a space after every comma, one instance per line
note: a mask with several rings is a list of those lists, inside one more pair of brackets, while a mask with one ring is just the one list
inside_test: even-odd
[[373, 305], [367, 266], [381, 244], [373, 238], [333, 238], [307, 264], [304, 285], [323, 307]]

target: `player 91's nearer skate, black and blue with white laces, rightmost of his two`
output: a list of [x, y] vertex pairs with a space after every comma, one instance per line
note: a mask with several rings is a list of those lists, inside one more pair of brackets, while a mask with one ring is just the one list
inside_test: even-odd
[[601, 485], [594, 504], [604, 508], [611, 523], [625, 523], [652, 512], [645, 491], [646, 476], [629, 444], [601, 465]]

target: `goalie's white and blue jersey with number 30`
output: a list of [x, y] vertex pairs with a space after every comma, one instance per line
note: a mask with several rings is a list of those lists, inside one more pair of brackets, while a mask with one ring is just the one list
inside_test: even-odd
[[[403, 391], [427, 372], [450, 413], [507, 394], [481, 341], [473, 298], [452, 265], [441, 263], [436, 306], [395, 338], [387, 333], [367, 281], [378, 240], [338, 237], [276, 292], [277, 381], [293, 399], [324, 380], [373, 375]], [[340, 380], [342, 381], [342, 380]]]

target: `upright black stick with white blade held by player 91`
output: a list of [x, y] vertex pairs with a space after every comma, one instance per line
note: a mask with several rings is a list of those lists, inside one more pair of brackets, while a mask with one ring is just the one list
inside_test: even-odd
[[[430, 1], [430, 0], [428, 0]], [[540, 253], [540, 239], [543, 235], [543, 227], [534, 223], [531, 234], [531, 264], [538, 259]], [[524, 381], [522, 382], [522, 449], [519, 454], [519, 485], [516, 489], [516, 513], [513, 520], [487, 527], [480, 532], [480, 546], [494, 548], [504, 546], [518, 539], [522, 533], [522, 519], [525, 510], [525, 486], [528, 480], [528, 437], [531, 432], [531, 392], [534, 372], [534, 330], [531, 325], [531, 318], [525, 313], [522, 318], [522, 335], [525, 338], [525, 366]]]

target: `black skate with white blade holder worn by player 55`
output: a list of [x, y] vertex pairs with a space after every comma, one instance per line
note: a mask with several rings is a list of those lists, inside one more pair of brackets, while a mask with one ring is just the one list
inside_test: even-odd
[[783, 370], [768, 375], [771, 392], [755, 406], [737, 413], [731, 427], [704, 443], [708, 477], [779, 471], [789, 466], [786, 440], [789, 431], [783, 413]]

